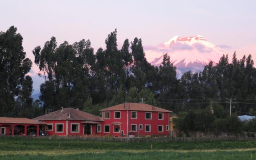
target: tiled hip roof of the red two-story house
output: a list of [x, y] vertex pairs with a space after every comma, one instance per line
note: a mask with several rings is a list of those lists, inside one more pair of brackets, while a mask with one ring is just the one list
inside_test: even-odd
[[108, 107], [100, 111], [117, 111], [117, 110], [134, 110], [134, 111], [149, 111], [149, 112], [172, 112], [156, 106], [144, 103], [122, 103], [116, 106]]

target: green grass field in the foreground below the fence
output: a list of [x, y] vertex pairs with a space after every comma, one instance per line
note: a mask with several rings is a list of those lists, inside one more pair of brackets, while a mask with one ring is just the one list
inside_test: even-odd
[[[152, 145], [152, 149], [151, 149]], [[0, 160], [256, 160], [256, 142], [95, 142], [0, 138]]]

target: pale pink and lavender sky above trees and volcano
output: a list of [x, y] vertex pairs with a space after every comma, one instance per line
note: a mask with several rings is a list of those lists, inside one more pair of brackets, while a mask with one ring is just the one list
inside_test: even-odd
[[[118, 44], [142, 38], [144, 46], [158, 46], [170, 38], [202, 35], [238, 58], [256, 57], [256, 1], [248, 0], [2, 0], [0, 30], [14, 25], [24, 38], [23, 46], [34, 61], [32, 50], [55, 36], [58, 44], [90, 39], [97, 50], [115, 28]], [[34, 92], [42, 80], [31, 72]]]

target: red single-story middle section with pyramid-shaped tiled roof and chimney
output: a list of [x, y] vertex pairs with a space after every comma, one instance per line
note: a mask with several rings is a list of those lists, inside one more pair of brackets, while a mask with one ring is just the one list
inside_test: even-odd
[[46, 123], [45, 131], [49, 135], [72, 136], [98, 134], [97, 125], [104, 120], [101, 117], [74, 108], [63, 108], [32, 120]]

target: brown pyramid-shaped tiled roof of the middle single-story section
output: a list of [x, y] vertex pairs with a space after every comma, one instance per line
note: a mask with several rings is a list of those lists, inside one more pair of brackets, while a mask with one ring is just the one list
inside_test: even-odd
[[[70, 117], [68, 116], [70, 114]], [[33, 120], [83, 120], [104, 121], [101, 117], [74, 108], [63, 108], [49, 114], [34, 118]]]

